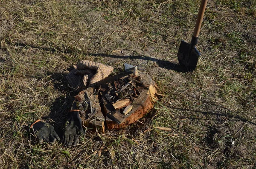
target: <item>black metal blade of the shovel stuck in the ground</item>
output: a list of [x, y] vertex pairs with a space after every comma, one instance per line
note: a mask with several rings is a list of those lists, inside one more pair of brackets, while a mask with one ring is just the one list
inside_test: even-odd
[[195, 45], [191, 45], [182, 40], [177, 55], [180, 65], [185, 67], [189, 72], [192, 72], [195, 70], [198, 58], [201, 54], [196, 49]]

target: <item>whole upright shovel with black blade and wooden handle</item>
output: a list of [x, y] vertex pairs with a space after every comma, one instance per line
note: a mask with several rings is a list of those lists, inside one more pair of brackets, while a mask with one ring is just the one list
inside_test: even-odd
[[195, 70], [198, 57], [201, 55], [199, 51], [196, 49], [195, 45], [198, 42], [198, 35], [201, 28], [201, 23], [204, 17], [204, 11], [207, 4], [207, 0], [201, 0], [201, 5], [198, 12], [198, 18], [195, 23], [194, 33], [190, 43], [185, 41], [180, 42], [180, 48], [178, 51], [178, 60], [180, 65], [185, 67], [189, 72]]

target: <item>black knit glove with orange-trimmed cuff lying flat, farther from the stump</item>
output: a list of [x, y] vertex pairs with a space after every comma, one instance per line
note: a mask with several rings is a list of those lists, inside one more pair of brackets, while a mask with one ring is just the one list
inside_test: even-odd
[[43, 144], [44, 140], [50, 144], [54, 144], [56, 140], [61, 140], [55, 132], [54, 127], [50, 124], [44, 123], [43, 121], [35, 121], [30, 128], [33, 130], [40, 144]]

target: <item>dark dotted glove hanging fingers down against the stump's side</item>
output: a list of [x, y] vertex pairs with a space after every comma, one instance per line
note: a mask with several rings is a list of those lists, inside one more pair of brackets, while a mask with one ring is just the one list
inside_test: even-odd
[[84, 134], [81, 118], [79, 117], [79, 110], [71, 110], [64, 126], [64, 133], [61, 141], [70, 147], [78, 144], [79, 136]]

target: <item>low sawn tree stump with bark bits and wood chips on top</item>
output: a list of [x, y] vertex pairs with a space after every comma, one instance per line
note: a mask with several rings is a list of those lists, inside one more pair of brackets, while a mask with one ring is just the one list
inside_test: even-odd
[[[126, 86], [131, 85], [136, 90], [134, 92], [136, 97], [119, 99], [115, 102], [105, 99], [104, 93], [109, 93], [108, 90], [111, 90], [110, 84], [116, 86], [124, 78], [129, 78], [131, 79], [130, 83], [135, 81], [136, 84], [138, 82], [136, 79], [139, 78], [140, 85], [135, 86], [135, 82], [134, 84], [128, 84], [128, 82], [125, 86], [122, 86], [121, 90], [115, 91], [114, 94], [118, 95], [117, 93], [124, 90]], [[140, 72], [136, 77], [132, 73], [119, 73], [98, 82], [93, 87], [82, 90], [75, 96], [75, 101], [78, 102], [76, 104], [80, 107], [87, 107], [87, 110], [84, 111], [79, 108], [83, 126], [105, 132], [105, 129], [123, 128], [145, 116], [157, 101], [155, 93], [156, 84], [150, 76]], [[87, 97], [90, 99], [87, 99]]]

